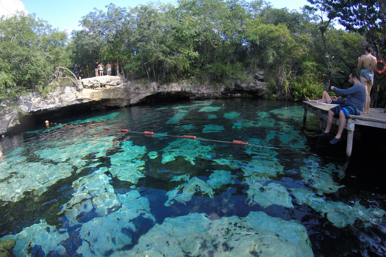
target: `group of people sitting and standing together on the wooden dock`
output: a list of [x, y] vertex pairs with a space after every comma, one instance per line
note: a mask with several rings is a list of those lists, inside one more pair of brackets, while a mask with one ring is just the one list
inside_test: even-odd
[[[373, 70], [377, 64], [376, 58], [371, 53], [372, 48], [367, 46], [364, 48], [364, 54], [358, 57], [358, 69], [361, 69], [360, 75], [356, 72], [352, 72], [348, 76], [348, 81], [353, 85], [352, 87], [348, 89], [339, 89], [335, 86], [331, 87], [331, 91], [339, 97], [330, 97], [326, 91], [323, 91], [322, 98], [318, 100], [311, 100], [307, 97], [307, 101], [309, 102], [338, 104], [328, 111], [326, 129], [323, 133], [318, 135], [319, 137], [330, 136], [334, 118], [339, 117], [338, 133], [335, 138], [330, 141], [333, 145], [341, 141], [347, 115], [360, 115], [362, 113], [370, 114], [370, 91], [374, 79]], [[340, 97], [344, 95], [347, 95], [347, 98], [343, 99]]]

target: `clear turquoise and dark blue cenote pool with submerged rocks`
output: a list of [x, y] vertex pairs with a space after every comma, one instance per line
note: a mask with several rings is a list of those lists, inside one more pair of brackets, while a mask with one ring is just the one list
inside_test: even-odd
[[358, 126], [346, 158], [303, 112], [158, 103], [8, 136], [0, 240], [16, 256], [384, 256], [384, 130]]

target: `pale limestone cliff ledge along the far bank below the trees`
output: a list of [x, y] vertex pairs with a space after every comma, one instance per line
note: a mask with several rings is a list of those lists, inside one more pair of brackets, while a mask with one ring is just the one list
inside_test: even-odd
[[[28, 115], [63, 112], [66, 108], [86, 106], [90, 109], [125, 107], [143, 101], [170, 98], [205, 99], [221, 97], [261, 96], [266, 91], [263, 73], [250, 75], [250, 82], [231, 80], [230, 86], [199, 85], [191, 82], [159, 84], [124, 81], [118, 76], [99, 76], [78, 81], [74, 87], [58, 88], [47, 98], [37, 93], [21, 96], [14, 103], [17, 110], [0, 106], [0, 134], [22, 123], [21, 113]], [[25, 115], [26, 116], [26, 115]]]

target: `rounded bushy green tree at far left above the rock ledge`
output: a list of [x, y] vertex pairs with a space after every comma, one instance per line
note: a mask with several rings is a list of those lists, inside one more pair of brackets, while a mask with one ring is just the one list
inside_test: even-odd
[[0, 20], [0, 35], [0, 101], [38, 87], [46, 90], [63, 62], [66, 33], [32, 15], [16, 15]]

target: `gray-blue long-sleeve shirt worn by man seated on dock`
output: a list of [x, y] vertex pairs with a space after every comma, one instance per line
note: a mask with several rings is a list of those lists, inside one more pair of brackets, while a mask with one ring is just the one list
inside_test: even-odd
[[364, 108], [364, 104], [366, 103], [366, 87], [362, 83], [358, 83], [350, 87], [349, 89], [339, 89], [334, 87], [334, 93], [337, 95], [343, 96], [347, 95], [344, 103], [341, 103], [342, 106], [354, 106], [359, 111], [362, 111]]

